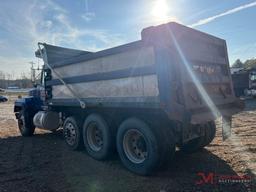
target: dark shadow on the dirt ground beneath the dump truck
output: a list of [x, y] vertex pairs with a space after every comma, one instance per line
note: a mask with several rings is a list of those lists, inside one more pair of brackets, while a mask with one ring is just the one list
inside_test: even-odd
[[123, 168], [116, 155], [99, 162], [83, 151], [70, 151], [62, 133], [0, 139], [0, 191], [247, 191], [244, 184], [202, 184], [203, 172], [236, 175], [213, 153], [176, 153], [165, 169], [150, 177]]

